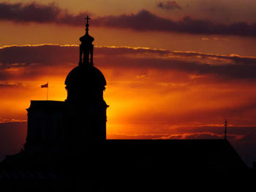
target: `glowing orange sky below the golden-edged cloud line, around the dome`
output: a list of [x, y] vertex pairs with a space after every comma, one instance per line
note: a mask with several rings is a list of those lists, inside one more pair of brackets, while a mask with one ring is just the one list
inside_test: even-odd
[[[40, 85], [47, 81], [49, 99], [66, 99], [64, 79], [77, 65], [77, 46], [11, 46], [2, 47], [1, 53], [7, 58], [2, 63], [6, 80], [0, 82], [2, 122], [26, 120], [29, 101], [46, 99]], [[203, 126], [219, 127], [225, 118], [233, 126], [255, 125], [255, 82], [248, 60], [256, 58], [95, 47], [94, 64], [107, 80], [108, 138], [181, 134], [182, 128], [194, 126], [205, 132]]]

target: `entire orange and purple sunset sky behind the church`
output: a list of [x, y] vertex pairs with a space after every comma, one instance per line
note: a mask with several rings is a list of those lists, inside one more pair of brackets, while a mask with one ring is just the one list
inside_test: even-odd
[[66, 99], [89, 15], [108, 139], [222, 139], [227, 118], [228, 139], [251, 164], [255, 9], [254, 0], [0, 1], [0, 158], [22, 147], [26, 108], [46, 99], [40, 85]]

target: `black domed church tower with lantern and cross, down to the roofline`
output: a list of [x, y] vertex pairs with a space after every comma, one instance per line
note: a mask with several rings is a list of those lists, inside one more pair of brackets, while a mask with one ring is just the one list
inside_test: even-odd
[[86, 34], [80, 37], [79, 62], [65, 80], [67, 99], [67, 126], [73, 135], [74, 148], [83, 147], [85, 142], [106, 139], [106, 111], [103, 99], [106, 80], [94, 66], [94, 37], [89, 35], [89, 16], [86, 17]]

